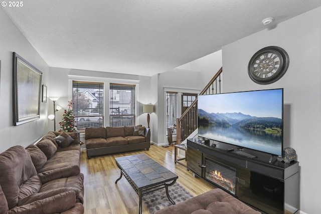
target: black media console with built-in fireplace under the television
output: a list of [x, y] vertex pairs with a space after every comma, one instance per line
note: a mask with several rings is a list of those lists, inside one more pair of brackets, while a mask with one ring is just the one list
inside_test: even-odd
[[[249, 153], [255, 158], [237, 154]], [[187, 140], [187, 168], [263, 213], [295, 213], [299, 166], [251, 149], [198, 138]]]

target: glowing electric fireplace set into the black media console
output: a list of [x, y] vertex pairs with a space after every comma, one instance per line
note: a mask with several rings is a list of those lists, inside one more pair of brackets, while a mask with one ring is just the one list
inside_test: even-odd
[[205, 179], [235, 195], [236, 168], [205, 157]]

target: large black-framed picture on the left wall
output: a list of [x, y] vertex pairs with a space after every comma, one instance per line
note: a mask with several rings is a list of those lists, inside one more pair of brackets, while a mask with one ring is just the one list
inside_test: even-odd
[[42, 72], [13, 52], [14, 126], [40, 118]]

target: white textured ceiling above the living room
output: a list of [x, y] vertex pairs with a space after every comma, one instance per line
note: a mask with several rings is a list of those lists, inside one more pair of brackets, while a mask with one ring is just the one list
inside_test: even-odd
[[[153, 76], [319, 0], [33, 0], [2, 7], [50, 67]], [[261, 21], [274, 17], [267, 26]]]

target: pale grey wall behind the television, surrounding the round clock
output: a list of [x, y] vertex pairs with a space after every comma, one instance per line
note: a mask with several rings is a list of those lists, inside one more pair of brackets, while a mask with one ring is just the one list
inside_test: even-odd
[[[300, 166], [301, 213], [319, 213], [318, 169], [321, 144], [321, 8], [224, 46], [224, 92], [284, 88], [285, 147], [296, 150]], [[270, 85], [252, 82], [247, 73], [253, 54], [279, 46], [289, 55], [285, 75]]]

